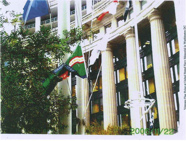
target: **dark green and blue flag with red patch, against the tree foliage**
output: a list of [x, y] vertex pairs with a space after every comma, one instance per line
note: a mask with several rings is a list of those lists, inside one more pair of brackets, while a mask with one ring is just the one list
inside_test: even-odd
[[77, 71], [75, 71], [73, 68], [66, 65], [65, 63], [55, 69], [43, 82], [43, 87], [46, 90], [46, 94], [50, 94], [58, 82], [65, 80], [67, 77], [69, 77], [70, 72], [77, 75]]

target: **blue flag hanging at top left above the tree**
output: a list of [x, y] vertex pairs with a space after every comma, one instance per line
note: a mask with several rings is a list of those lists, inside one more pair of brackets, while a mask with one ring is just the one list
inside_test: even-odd
[[27, 0], [23, 8], [23, 20], [26, 21], [49, 14], [47, 0]]

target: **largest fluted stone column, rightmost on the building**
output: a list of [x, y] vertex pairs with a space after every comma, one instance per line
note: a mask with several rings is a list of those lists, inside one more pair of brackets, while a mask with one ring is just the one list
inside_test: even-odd
[[151, 26], [152, 54], [160, 129], [177, 129], [169, 58], [163, 21], [154, 9], [148, 19]]

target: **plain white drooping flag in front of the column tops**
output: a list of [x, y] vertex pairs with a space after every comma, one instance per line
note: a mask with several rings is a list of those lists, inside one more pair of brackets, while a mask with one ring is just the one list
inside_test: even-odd
[[104, 37], [102, 38], [102, 40], [99, 41], [99, 45], [97, 45], [97, 47], [95, 47], [92, 50], [91, 56], [89, 58], [89, 60], [90, 60], [89, 65], [93, 65], [95, 63], [96, 59], [99, 58], [100, 52], [106, 50], [107, 43], [108, 43], [108, 37], [109, 37], [109, 34], [105, 34]]

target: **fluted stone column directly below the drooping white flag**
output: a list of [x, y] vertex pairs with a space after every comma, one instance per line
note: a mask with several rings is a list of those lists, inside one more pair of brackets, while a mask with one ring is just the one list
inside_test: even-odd
[[116, 87], [114, 83], [113, 53], [110, 47], [102, 51], [102, 93], [104, 129], [117, 126]]

